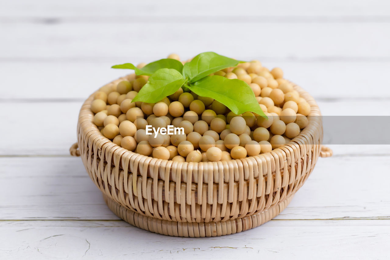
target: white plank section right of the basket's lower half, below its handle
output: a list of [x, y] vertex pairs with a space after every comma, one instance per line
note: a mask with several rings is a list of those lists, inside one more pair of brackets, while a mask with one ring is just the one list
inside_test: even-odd
[[[320, 158], [307, 183], [277, 218], [390, 219], [390, 195], [379, 191], [377, 178], [369, 177], [390, 180], [386, 174], [389, 158], [389, 153], [383, 157]], [[379, 197], [371, 196], [373, 191], [379, 192]], [[303, 217], [305, 211], [310, 217]]]

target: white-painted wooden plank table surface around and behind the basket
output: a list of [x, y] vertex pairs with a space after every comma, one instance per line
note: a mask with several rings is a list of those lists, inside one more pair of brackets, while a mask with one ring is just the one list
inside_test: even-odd
[[0, 3], [0, 259], [385, 259], [390, 146], [333, 145], [274, 220], [188, 239], [106, 207], [70, 157], [78, 110], [121, 62], [203, 51], [280, 66], [324, 115], [390, 115], [387, 0]]

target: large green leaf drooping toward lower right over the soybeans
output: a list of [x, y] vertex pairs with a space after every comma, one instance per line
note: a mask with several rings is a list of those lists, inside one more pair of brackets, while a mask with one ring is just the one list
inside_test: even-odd
[[189, 87], [191, 91], [199, 96], [214, 98], [229, 107], [234, 114], [255, 112], [267, 118], [259, 103], [257, 103], [252, 89], [242, 80], [214, 75], [202, 78]]

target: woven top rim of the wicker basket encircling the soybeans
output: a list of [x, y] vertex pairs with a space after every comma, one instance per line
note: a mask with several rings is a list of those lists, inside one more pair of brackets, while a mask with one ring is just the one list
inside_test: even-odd
[[[128, 80], [126, 77], [129, 77], [130, 75], [132, 74], [113, 80], [112, 82], [105, 85], [115, 84], [122, 80]], [[278, 154], [280, 153], [286, 154], [285, 149], [291, 150], [293, 149], [293, 146], [299, 147], [301, 145], [309, 145], [309, 143], [306, 141], [307, 139], [305, 138], [305, 136], [312, 135], [311, 134], [312, 131], [318, 130], [319, 127], [322, 128], [321, 111], [319, 110], [319, 107], [316, 101], [314, 100], [314, 98], [310, 94], [308, 94], [304, 89], [302, 89], [300, 86], [294, 84], [289, 80], [287, 80], [287, 82], [291, 83], [293, 85], [294, 90], [298, 91], [298, 93], [300, 94], [300, 97], [304, 98], [310, 105], [311, 110], [310, 110], [310, 114], [308, 115], [308, 125], [300, 132], [298, 136], [294, 137], [294, 139], [292, 139], [287, 144], [284, 144], [283, 146], [280, 146], [279, 148], [273, 149], [269, 152], [255, 155], [255, 156], [245, 157], [241, 159], [232, 159], [229, 161], [218, 161], [218, 162], [174, 162], [172, 160], [157, 159], [150, 156], [141, 155], [139, 153], [135, 153], [133, 151], [129, 151], [125, 148], [122, 148], [121, 146], [118, 146], [117, 144], [113, 143], [110, 139], [105, 137], [103, 134], [101, 134], [97, 126], [93, 123], [94, 113], [90, 110], [90, 105], [93, 101], [94, 95], [96, 94], [97, 91], [99, 91], [99, 89], [97, 89], [94, 93], [92, 93], [89, 96], [89, 98], [85, 100], [85, 102], [82, 105], [82, 108], [80, 109], [79, 118], [78, 118], [78, 134], [82, 132], [85, 135], [88, 135], [88, 139], [90, 139], [92, 135], [99, 135], [99, 139], [101, 142], [99, 143], [99, 147], [97, 147], [98, 150], [101, 150], [103, 146], [108, 144], [108, 146], [110, 147], [109, 150], [113, 150], [112, 156], [114, 158], [117, 158], [117, 156], [119, 156], [121, 160], [124, 159], [124, 157], [127, 157], [128, 160], [131, 160], [132, 157], [134, 158], [137, 157], [139, 158], [138, 160], [140, 162], [146, 162], [146, 163], [160, 161], [162, 165], [165, 165], [166, 167], [170, 167], [170, 168], [172, 168], [172, 166], [174, 165], [177, 166], [181, 165], [181, 168], [183, 167], [187, 168], [188, 166], [192, 167], [194, 164], [197, 164], [198, 166], [202, 167], [206, 164], [212, 163], [214, 166], [217, 167], [216, 169], [218, 169], [220, 166], [223, 167], [222, 165], [224, 164], [223, 162], [226, 162], [228, 165], [230, 165], [234, 161], [246, 162], [248, 164], [252, 164], [254, 160], [255, 161], [260, 160], [265, 162], [269, 160], [269, 158], [274, 158], [275, 156], [278, 156]], [[78, 142], [79, 141], [80, 140], [78, 138]], [[79, 143], [79, 147], [80, 147], [80, 143]], [[295, 160], [298, 159], [299, 157], [295, 157]]]

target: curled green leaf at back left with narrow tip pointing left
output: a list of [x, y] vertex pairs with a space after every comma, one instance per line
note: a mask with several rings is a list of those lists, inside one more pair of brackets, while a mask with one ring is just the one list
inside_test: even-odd
[[145, 67], [141, 68], [141, 69], [138, 69], [136, 66], [134, 66], [131, 63], [114, 65], [111, 68], [114, 68], [114, 69], [134, 69], [135, 75], [151, 76], [158, 69], [163, 69], [163, 68], [176, 69], [177, 71], [181, 72], [183, 70], [183, 64], [180, 61], [177, 61], [174, 59], [161, 59], [158, 61], [151, 62], [151, 63], [145, 65]]

